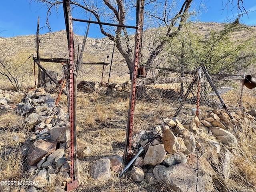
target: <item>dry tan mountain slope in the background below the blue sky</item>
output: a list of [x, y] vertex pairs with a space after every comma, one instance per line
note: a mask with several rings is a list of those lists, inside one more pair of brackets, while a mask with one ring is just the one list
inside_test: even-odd
[[[216, 22], [207, 22], [207, 23], [196, 23], [193, 25], [194, 32], [208, 35], [210, 30], [221, 30], [224, 28], [224, 23], [216, 23]], [[250, 36], [256, 34], [256, 26], [250, 27], [250, 32], [246, 30], [241, 30], [234, 33], [234, 38], [246, 39]], [[156, 29], [155, 29], [156, 30]], [[152, 32], [154, 29], [147, 29], [143, 33], [145, 53], [144, 57], [146, 57], [148, 52], [148, 45], [152, 43]], [[164, 30], [162, 30], [164, 31]], [[164, 34], [164, 32], [163, 32]], [[68, 58], [68, 47], [67, 47], [67, 39], [66, 39], [66, 31], [61, 30], [57, 32], [49, 32], [46, 34], [40, 34], [40, 56], [50, 58]], [[83, 36], [74, 36], [75, 42], [75, 53], [77, 54], [78, 44], [79, 48], [82, 47]], [[132, 37], [131, 37], [132, 38]], [[132, 38], [133, 40], [133, 38]], [[36, 35], [28, 35], [28, 36], [16, 36], [12, 38], [0, 38], [0, 52], [14, 56], [19, 53], [25, 54], [29, 57], [31, 54], [36, 56]], [[94, 39], [87, 38], [86, 46], [84, 49], [84, 61], [94, 61], [94, 62], [102, 62], [104, 59], [107, 59], [107, 56], [112, 55], [113, 42], [108, 38]], [[124, 58], [122, 55], [116, 50], [114, 52], [114, 62], [123, 63]]]

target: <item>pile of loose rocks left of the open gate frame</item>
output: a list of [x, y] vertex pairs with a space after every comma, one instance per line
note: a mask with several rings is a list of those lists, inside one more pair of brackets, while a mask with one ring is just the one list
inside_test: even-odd
[[17, 105], [17, 112], [26, 116], [25, 121], [32, 127], [26, 143], [30, 146], [27, 160], [31, 181], [35, 184], [33, 187], [53, 186], [58, 180], [64, 189], [70, 181], [70, 122], [67, 112], [56, 107], [54, 98], [44, 88], [28, 92]]

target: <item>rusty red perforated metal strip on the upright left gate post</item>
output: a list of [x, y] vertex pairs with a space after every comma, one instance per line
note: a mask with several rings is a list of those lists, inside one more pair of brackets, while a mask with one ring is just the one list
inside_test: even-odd
[[74, 175], [74, 46], [73, 46], [73, 28], [72, 17], [69, 22], [69, 76], [70, 76], [70, 182], [67, 183], [67, 191], [78, 187], [78, 180], [75, 180]]

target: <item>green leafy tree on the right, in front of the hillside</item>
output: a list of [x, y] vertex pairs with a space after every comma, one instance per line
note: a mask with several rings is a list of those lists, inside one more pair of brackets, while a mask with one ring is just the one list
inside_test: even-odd
[[204, 63], [210, 74], [237, 74], [255, 64], [255, 35], [248, 35], [252, 29], [235, 23], [223, 25], [206, 34], [193, 24], [186, 26], [166, 48], [170, 65], [178, 71], [191, 71]]

